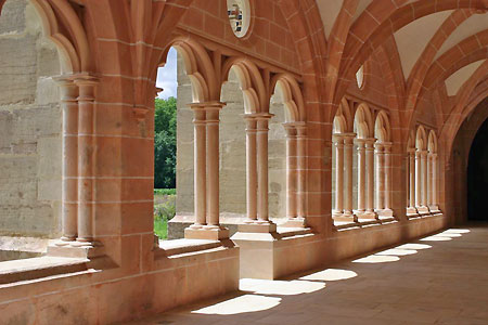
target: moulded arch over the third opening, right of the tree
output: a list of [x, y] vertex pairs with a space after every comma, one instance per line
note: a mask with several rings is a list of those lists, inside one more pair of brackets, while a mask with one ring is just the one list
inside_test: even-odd
[[279, 92], [283, 98], [286, 121], [303, 121], [305, 118], [304, 99], [295, 78], [285, 74], [277, 75], [271, 81], [271, 88], [273, 93]]

